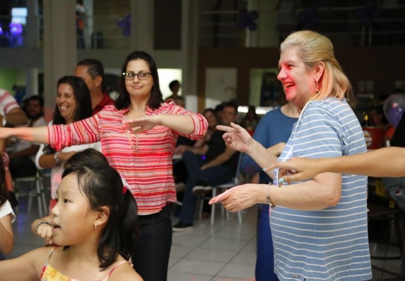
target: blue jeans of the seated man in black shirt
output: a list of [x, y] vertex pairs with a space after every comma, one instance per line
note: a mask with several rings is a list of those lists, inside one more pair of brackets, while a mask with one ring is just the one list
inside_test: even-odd
[[190, 151], [184, 152], [182, 159], [189, 177], [184, 191], [185, 194], [183, 206], [181, 207], [180, 221], [193, 224], [197, 204], [197, 196], [193, 193], [193, 187], [196, 186], [197, 181], [204, 180], [209, 185], [224, 184], [230, 182], [235, 176], [235, 173], [231, 173], [231, 171], [223, 165], [201, 170], [200, 167], [204, 164], [204, 160], [200, 155], [196, 155]]

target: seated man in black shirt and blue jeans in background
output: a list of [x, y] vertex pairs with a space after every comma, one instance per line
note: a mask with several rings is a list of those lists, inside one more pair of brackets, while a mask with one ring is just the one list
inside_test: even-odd
[[[228, 126], [235, 122], [238, 107], [234, 103], [227, 103], [222, 114], [222, 124]], [[222, 135], [224, 132], [215, 130], [210, 140], [202, 147], [184, 147], [183, 162], [189, 174], [180, 221], [173, 226], [173, 231], [188, 230], [193, 227], [197, 196], [193, 187], [208, 191], [209, 185], [224, 184], [235, 176], [237, 153], [226, 147]]]

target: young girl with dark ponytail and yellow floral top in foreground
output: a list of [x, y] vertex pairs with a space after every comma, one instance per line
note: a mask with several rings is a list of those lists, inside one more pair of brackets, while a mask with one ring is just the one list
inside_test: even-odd
[[136, 213], [131, 192], [112, 167], [71, 166], [52, 210], [52, 238], [59, 246], [0, 262], [0, 279], [142, 280], [127, 261], [135, 247]]

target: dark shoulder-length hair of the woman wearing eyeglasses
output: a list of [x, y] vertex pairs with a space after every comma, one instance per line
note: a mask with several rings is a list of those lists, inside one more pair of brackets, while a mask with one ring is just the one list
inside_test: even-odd
[[[146, 52], [143, 51], [135, 51], [129, 54], [129, 56], [126, 58], [124, 65], [122, 66], [122, 71], [121, 73], [127, 72], [127, 65], [128, 62], [131, 60], [144, 60], [146, 63], [148, 63], [149, 68], [152, 73], [152, 78], [153, 78], [153, 87], [151, 91], [151, 96], [148, 101], [149, 107], [153, 109], [159, 108], [160, 104], [163, 102], [162, 98], [162, 92], [160, 92], [160, 87], [159, 87], [159, 76], [158, 76], [158, 68], [156, 66], [155, 60], [152, 58], [152, 56]], [[123, 75], [120, 75], [120, 83], [118, 87], [118, 98], [115, 101], [115, 106], [117, 109], [123, 109], [127, 108], [131, 104], [131, 100], [129, 98], [129, 93], [127, 91], [127, 88], [125, 87], [125, 79]]]

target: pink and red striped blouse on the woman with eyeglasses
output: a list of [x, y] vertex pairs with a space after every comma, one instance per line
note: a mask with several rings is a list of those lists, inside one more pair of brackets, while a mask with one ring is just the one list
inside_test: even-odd
[[101, 141], [101, 149], [109, 164], [125, 177], [138, 204], [139, 215], [159, 212], [167, 202], [175, 202], [172, 157], [178, 135], [196, 140], [208, 128], [201, 114], [174, 104], [162, 103], [158, 109], [146, 109], [146, 115], [190, 115], [194, 122], [191, 134], [181, 134], [164, 126], [139, 134], [123, 129], [125, 113], [113, 105], [97, 114], [70, 125], [48, 127], [49, 143], [59, 151], [65, 146]]

